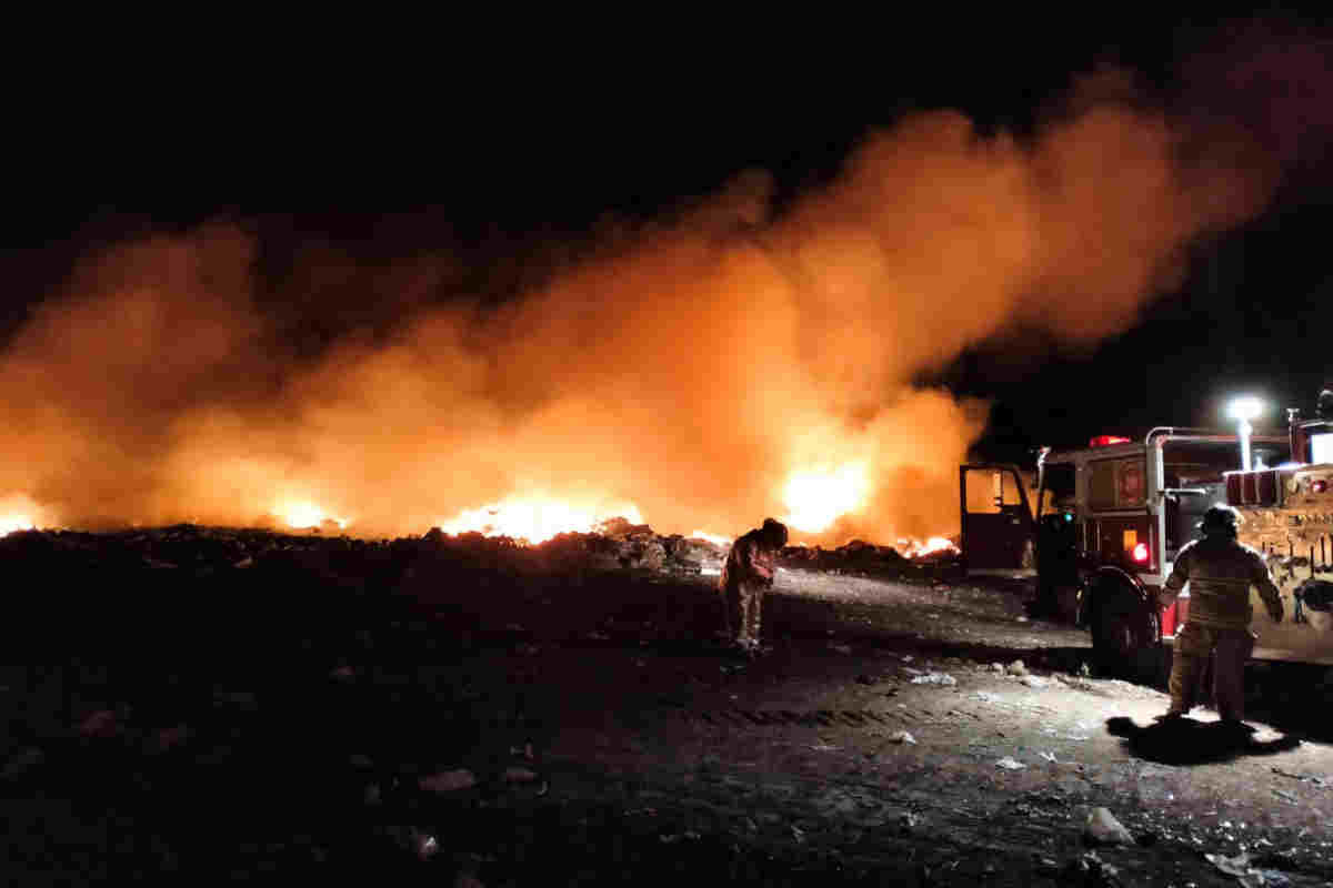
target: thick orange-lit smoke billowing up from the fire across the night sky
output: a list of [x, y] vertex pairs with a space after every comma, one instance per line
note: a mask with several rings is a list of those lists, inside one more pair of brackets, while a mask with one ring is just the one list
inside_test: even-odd
[[864, 505], [824, 539], [948, 533], [986, 405], [910, 381], [1020, 330], [1133, 325], [1196, 238], [1265, 200], [1225, 148], [1105, 83], [1022, 142], [921, 114], [781, 214], [742, 176], [499, 306], [421, 308], [456, 257], [389, 274], [401, 292], [373, 298], [407, 320], [317, 359], [275, 343], [271, 306], [317, 317], [319, 258], [260, 305], [235, 228], [124, 246], [0, 359], [0, 497], [85, 525], [313, 502], [393, 534], [544, 493], [730, 534], [784, 515], [793, 473], [854, 465]]

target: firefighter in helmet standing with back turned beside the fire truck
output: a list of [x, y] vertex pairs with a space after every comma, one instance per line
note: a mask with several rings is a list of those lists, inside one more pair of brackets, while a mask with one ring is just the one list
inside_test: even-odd
[[1180, 550], [1162, 592], [1169, 603], [1189, 582], [1189, 618], [1176, 635], [1170, 670], [1170, 710], [1165, 719], [1189, 712], [1200, 678], [1213, 655], [1213, 700], [1217, 715], [1232, 727], [1244, 728], [1245, 660], [1258, 638], [1249, 628], [1250, 586], [1273, 622], [1282, 622], [1282, 599], [1269, 576], [1264, 558], [1236, 539], [1240, 513], [1217, 505], [1204, 513], [1204, 538]]

